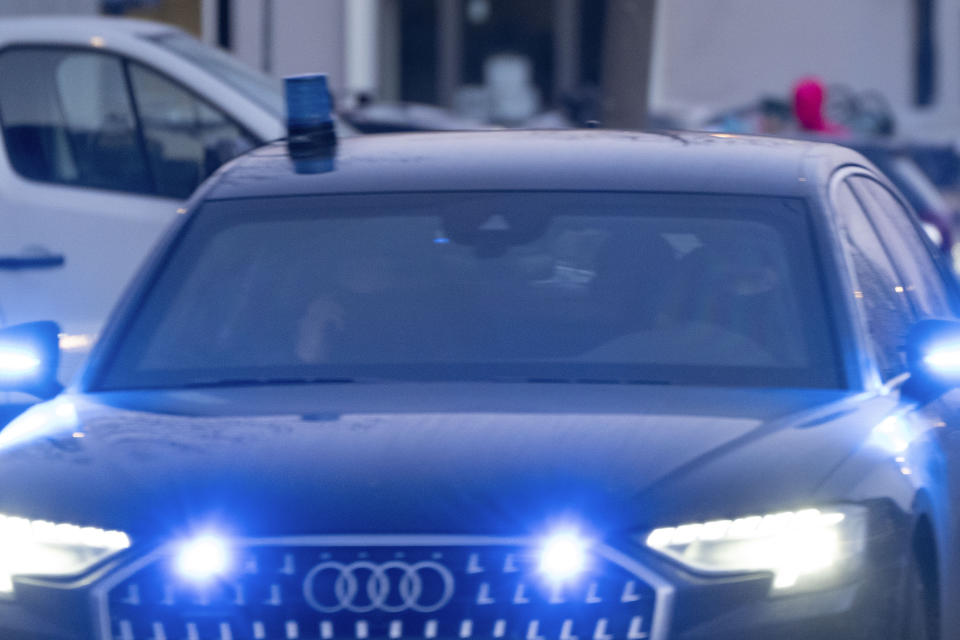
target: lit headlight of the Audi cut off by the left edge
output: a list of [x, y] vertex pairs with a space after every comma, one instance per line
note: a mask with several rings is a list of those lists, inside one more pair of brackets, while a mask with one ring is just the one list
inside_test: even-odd
[[13, 592], [15, 575], [72, 575], [129, 546], [122, 531], [0, 514], [0, 595]]

